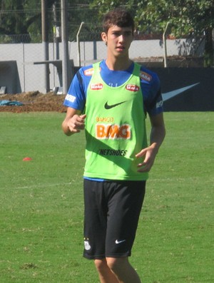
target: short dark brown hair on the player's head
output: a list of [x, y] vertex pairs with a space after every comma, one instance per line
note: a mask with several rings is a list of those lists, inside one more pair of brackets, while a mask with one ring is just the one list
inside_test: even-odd
[[104, 17], [103, 17], [103, 31], [106, 33], [108, 32], [108, 29], [111, 26], [120, 26], [121, 28], [130, 27], [132, 31], [134, 31], [134, 21], [133, 16], [126, 11], [122, 9], [115, 9], [113, 11], [109, 11]]

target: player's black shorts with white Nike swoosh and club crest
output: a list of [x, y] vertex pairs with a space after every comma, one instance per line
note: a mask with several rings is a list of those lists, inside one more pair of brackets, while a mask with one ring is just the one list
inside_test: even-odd
[[84, 180], [84, 252], [88, 259], [129, 257], [146, 181]]

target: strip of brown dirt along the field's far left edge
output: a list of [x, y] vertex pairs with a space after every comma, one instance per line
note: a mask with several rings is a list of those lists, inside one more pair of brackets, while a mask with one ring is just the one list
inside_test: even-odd
[[56, 95], [53, 92], [39, 93], [39, 91], [31, 91], [19, 94], [4, 94], [0, 96], [0, 101], [19, 101], [24, 103], [23, 106], [0, 106], [0, 112], [66, 112], [66, 107], [63, 106], [64, 95]]

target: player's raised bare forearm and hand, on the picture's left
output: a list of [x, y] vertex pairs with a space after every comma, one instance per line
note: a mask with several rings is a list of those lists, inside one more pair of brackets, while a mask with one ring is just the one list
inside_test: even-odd
[[63, 120], [62, 129], [66, 135], [73, 135], [79, 133], [85, 128], [86, 115], [81, 115], [80, 110], [68, 107], [66, 118]]

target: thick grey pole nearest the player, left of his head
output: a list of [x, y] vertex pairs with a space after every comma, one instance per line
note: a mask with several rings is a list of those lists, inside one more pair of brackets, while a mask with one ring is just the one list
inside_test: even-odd
[[67, 17], [66, 0], [61, 0], [61, 41], [63, 47], [63, 58], [62, 58], [63, 94], [66, 94], [68, 91], [68, 17]]

